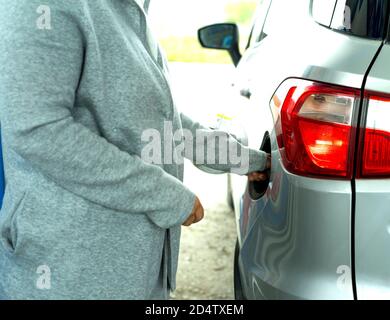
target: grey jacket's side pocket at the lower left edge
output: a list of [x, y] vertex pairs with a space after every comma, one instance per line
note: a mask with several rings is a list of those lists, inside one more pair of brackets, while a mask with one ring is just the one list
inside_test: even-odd
[[9, 253], [14, 254], [18, 243], [17, 216], [23, 211], [26, 192], [18, 197], [4, 196], [4, 203], [0, 213], [0, 240]]

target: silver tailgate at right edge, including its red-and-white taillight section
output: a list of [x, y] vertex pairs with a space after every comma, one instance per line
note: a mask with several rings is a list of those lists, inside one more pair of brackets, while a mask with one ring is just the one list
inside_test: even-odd
[[367, 78], [356, 179], [358, 299], [390, 299], [390, 43]]

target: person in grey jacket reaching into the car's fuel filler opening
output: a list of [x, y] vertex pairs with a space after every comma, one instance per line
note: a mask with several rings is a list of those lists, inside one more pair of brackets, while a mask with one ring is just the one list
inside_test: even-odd
[[[200, 148], [198, 133], [217, 132], [178, 113], [148, 4], [0, 0], [0, 299], [169, 298], [181, 226], [203, 208], [182, 162], [146, 159], [150, 137], [164, 137], [162, 159], [191, 134], [196, 164], [237, 166]], [[241, 174], [269, 166], [226, 139], [248, 155]], [[212, 152], [215, 163], [196, 162]]]

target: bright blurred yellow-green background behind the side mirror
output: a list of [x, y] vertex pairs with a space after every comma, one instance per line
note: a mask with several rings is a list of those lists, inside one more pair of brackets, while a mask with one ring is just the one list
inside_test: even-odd
[[197, 30], [213, 23], [234, 22], [240, 29], [243, 50], [257, 3], [258, 0], [156, 0], [150, 16], [169, 61], [231, 63], [226, 51], [202, 48]]

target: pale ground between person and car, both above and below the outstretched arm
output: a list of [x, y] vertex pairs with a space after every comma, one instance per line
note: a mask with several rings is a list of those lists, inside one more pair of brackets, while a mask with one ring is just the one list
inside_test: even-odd
[[[207, 122], [223, 111], [230, 65], [171, 65], [179, 107]], [[226, 175], [209, 175], [186, 164], [185, 183], [205, 207], [203, 222], [183, 228], [175, 299], [233, 299], [234, 215], [226, 204]]]

